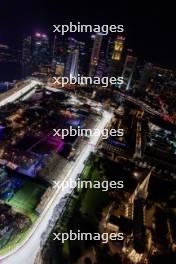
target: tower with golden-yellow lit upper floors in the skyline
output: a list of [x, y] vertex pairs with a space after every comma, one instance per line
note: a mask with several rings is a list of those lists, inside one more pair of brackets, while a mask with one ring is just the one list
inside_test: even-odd
[[114, 43], [111, 40], [108, 43], [108, 76], [117, 77], [122, 74], [124, 41], [124, 37], [118, 36]]

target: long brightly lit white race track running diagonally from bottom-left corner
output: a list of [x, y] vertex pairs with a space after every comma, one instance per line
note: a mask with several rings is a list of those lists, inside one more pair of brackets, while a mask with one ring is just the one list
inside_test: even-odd
[[[96, 126], [96, 129], [102, 131], [112, 118], [112, 114], [104, 111], [102, 119]], [[84, 168], [84, 162], [89, 157], [90, 153], [95, 149], [97, 142], [100, 139], [99, 135], [95, 133], [89, 139], [89, 143], [85, 145], [83, 150], [80, 152], [77, 160], [73, 163], [71, 168], [65, 175], [63, 175], [62, 180], [76, 180], [78, 174], [80, 174]], [[41, 235], [47, 229], [49, 221], [52, 219], [54, 208], [61, 199], [66, 195], [70, 194], [72, 189], [70, 187], [57, 188], [55, 194], [48, 202], [45, 210], [42, 212], [36, 223], [34, 224], [30, 234], [20, 245], [18, 245], [10, 253], [0, 257], [0, 264], [33, 264], [35, 257], [40, 250]]]

